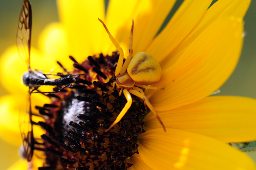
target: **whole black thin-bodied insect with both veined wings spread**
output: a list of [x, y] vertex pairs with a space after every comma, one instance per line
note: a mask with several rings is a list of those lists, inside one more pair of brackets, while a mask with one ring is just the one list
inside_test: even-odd
[[[23, 155], [29, 162], [32, 159], [34, 144], [38, 144], [33, 135], [33, 124], [31, 113], [31, 93], [37, 90], [41, 85], [47, 86], [64, 86], [74, 82], [79, 82], [79, 79], [74, 78], [74, 75], [62, 75], [59, 79], [47, 79], [46, 75], [40, 71], [32, 70], [30, 68], [30, 40], [31, 40], [31, 26], [32, 26], [32, 10], [31, 4], [28, 0], [23, 1], [22, 9], [19, 15], [19, 25], [16, 35], [16, 45], [20, 58], [25, 60], [29, 72], [23, 74], [23, 83], [29, 87], [28, 105], [21, 110], [19, 116], [20, 133], [23, 140]], [[59, 64], [59, 63], [58, 63]], [[59, 64], [62, 66], [61, 64]], [[40, 93], [56, 93], [59, 92], [40, 92]]]

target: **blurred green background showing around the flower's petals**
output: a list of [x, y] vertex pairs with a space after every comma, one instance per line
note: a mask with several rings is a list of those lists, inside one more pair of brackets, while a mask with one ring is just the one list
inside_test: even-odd
[[[177, 0], [174, 9], [170, 12], [169, 18], [174, 14], [182, 1], [183, 0]], [[31, 44], [37, 48], [39, 33], [48, 23], [58, 21], [58, 12], [56, 2], [54, 0], [30, 0], [30, 2], [33, 9], [33, 31]], [[22, 0], [0, 0], [0, 55], [9, 46], [16, 44], [16, 31], [21, 7]], [[244, 38], [244, 47], [240, 61], [229, 80], [227, 80], [227, 82], [220, 88], [221, 92], [218, 95], [237, 95], [256, 98], [255, 0], [251, 2], [251, 6], [245, 15], [244, 21], [246, 36]], [[0, 84], [0, 97], [5, 94], [8, 93]], [[0, 139], [0, 169], [7, 169], [19, 159], [18, 149], [18, 147], [14, 147]], [[256, 152], [250, 152], [249, 155], [252, 156], [256, 162]]]

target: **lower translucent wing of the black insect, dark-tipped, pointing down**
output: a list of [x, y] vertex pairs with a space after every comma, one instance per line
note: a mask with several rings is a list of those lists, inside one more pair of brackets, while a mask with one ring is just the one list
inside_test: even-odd
[[27, 100], [20, 107], [19, 127], [23, 141], [23, 155], [29, 162], [32, 159], [34, 151], [30, 94], [28, 94]]

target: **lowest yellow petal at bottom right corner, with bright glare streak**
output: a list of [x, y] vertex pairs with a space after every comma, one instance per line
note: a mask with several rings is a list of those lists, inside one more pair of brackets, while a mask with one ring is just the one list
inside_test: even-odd
[[138, 151], [152, 169], [255, 170], [246, 154], [213, 138], [178, 129], [152, 129], [139, 136]]

